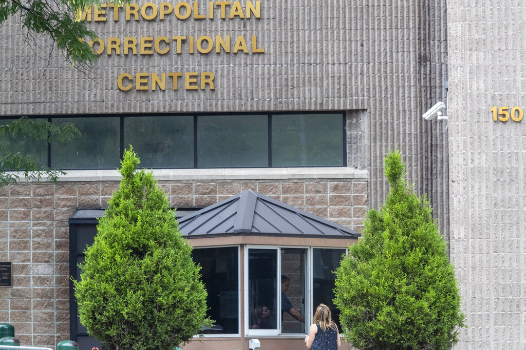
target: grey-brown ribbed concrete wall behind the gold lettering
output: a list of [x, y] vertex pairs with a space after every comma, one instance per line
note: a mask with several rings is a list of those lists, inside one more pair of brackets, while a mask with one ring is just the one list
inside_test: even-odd
[[[198, 4], [204, 11], [208, 1]], [[0, 66], [0, 113], [361, 110], [353, 113], [366, 116], [359, 125], [367, 146], [352, 149], [362, 154], [349, 165], [369, 168], [370, 206], [378, 207], [388, 192], [383, 157], [398, 145], [409, 182], [428, 193], [447, 236], [447, 132], [443, 123], [421, 118], [446, 99], [445, 13], [445, 0], [271, 0], [261, 2], [260, 19], [220, 19], [219, 8], [213, 20], [171, 15], [128, 22], [120, 14], [115, 23], [91, 26], [103, 39], [256, 35], [265, 53], [178, 55], [171, 43], [166, 55], [103, 54], [90, 72], [71, 69], [56, 50], [47, 59], [23, 44], [11, 19], [0, 29], [0, 50], [8, 53]], [[45, 38], [38, 45], [50, 47]], [[117, 88], [123, 72], [169, 71], [214, 72], [215, 90]]]

